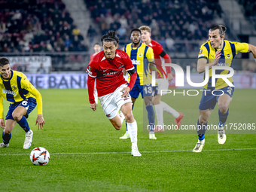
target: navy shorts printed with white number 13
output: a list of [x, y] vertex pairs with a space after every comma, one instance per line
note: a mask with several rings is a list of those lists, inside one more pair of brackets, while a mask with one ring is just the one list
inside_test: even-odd
[[142, 98], [145, 96], [152, 96], [153, 87], [151, 84], [140, 85], [139, 83], [134, 84], [133, 90], [130, 91], [130, 96], [134, 98], [139, 97], [139, 93], [142, 94]]

